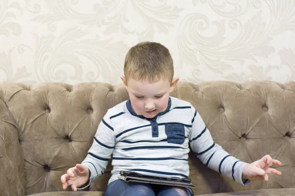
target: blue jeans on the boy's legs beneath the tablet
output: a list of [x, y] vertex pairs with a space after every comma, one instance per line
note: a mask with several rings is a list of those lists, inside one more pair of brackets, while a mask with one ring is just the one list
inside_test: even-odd
[[106, 190], [105, 196], [193, 196], [188, 187], [173, 187], [147, 183], [125, 182], [115, 180]]

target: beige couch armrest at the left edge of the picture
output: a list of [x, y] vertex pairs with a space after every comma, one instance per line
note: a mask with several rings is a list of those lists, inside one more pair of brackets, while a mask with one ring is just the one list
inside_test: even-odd
[[25, 196], [24, 158], [17, 126], [0, 99], [0, 195]]

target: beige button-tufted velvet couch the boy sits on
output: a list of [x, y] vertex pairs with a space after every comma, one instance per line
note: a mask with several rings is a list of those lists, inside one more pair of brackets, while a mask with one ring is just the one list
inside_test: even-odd
[[[282, 176], [242, 186], [191, 153], [195, 195], [295, 195], [295, 82], [179, 82], [171, 96], [191, 102], [215, 142], [238, 159], [270, 154], [283, 164]], [[0, 83], [0, 195], [103, 196], [111, 161], [84, 191], [63, 191], [60, 176], [87, 155], [108, 108], [126, 99], [119, 84]]]

